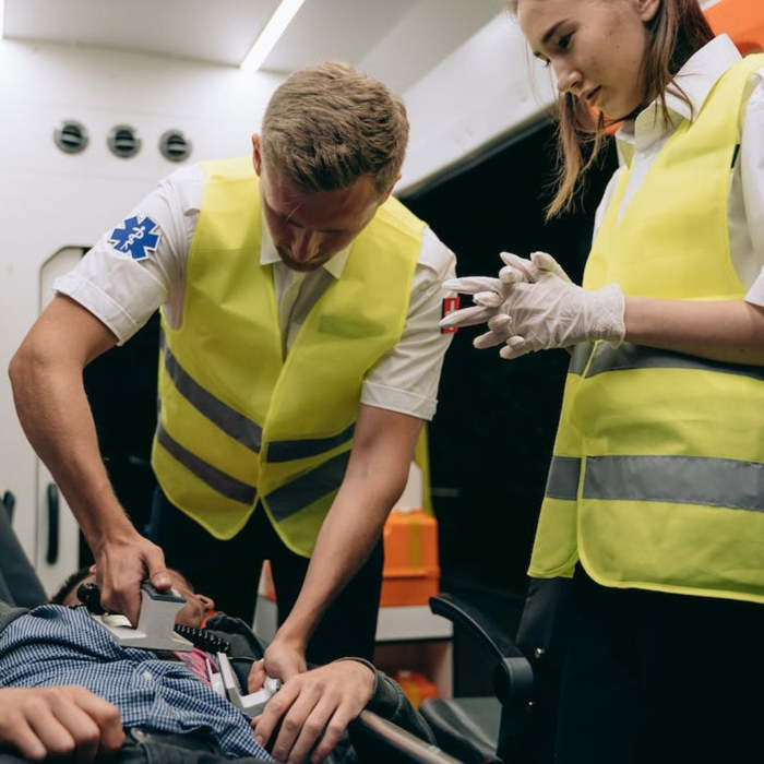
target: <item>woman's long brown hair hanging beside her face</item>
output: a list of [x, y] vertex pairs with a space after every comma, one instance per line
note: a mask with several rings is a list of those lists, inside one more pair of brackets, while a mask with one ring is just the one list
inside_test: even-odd
[[[511, 11], [516, 12], [517, 2], [510, 2]], [[648, 39], [641, 72], [644, 83], [642, 103], [649, 104], [657, 98], [664, 119], [668, 120], [667, 92], [676, 94], [692, 108], [673, 77], [696, 50], [714, 38], [714, 32], [699, 0], [661, 0], [660, 8], [646, 26]], [[606, 130], [612, 124], [602, 115], [596, 118], [571, 93], [560, 95], [557, 111], [557, 192], [547, 207], [547, 219], [574, 206], [583, 177], [597, 160], [608, 138]]]

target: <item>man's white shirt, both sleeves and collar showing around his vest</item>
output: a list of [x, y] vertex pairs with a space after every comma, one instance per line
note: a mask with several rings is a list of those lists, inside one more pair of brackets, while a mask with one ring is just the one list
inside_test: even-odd
[[[162, 306], [166, 321], [178, 329], [183, 320], [186, 262], [199, 220], [204, 172], [183, 167], [160, 181], [131, 213], [150, 217], [160, 232], [155, 251], [142, 260], [118, 252], [111, 230], [76, 267], [56, 279], [53, 288], [86, 308], [127, 342]], [[263, 218], [263, 223], [265, 223]], [[297, 273], [278, 256], [267, 226], [262, 226], [260, 262], [273, 264], [282, 336], [287, 349], [319, 297], [341, 278], [350, 247], [310, 273]], [[451, 342], [441, 334], [441, 284], [455, 271], [453, 253], [427, 228], [411, 283], [406, 324], [398, 344], [369, 371], [361, 403], [431, 419], [435, 413], [443, 356]]]

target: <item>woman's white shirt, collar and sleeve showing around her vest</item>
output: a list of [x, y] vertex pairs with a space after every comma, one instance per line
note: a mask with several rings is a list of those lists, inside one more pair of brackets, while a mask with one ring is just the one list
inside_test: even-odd
[[[687, 61], [676, 79], [692, 103], [692, 115], [696, 116], [701, 110], [718, 79], [740, 60], [732, 41], [727, 35], [721, 35]], [[751, 77], [749, 93], [741, 146], [729, 191], [727, 223], [732, 265], [748, 290], [745, 300], [764, 306], [764, 69]], [[634, 122], [624, 124], [616, 134], [621, 167], [610, 179], [597, 208], [595, 230], [599, 228], [616, 184], [624, 171], [625, 158], [633, 156], [633, 169], [619, 219], [676, 126], [682, 119], [691, 119], [690, 108], [683, 100], [667, 94], [666, 102], [673, 127], [665, 124], [659, 105], [655, 102]]]

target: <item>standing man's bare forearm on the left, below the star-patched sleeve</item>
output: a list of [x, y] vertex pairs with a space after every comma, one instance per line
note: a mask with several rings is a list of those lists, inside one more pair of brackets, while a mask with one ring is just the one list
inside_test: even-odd
[[105, 529], [130, 533], [130, 521], [100, 459], [82, 368], [22, 348], [10, 374], [24, 432], [61, 488], [91, 548], [95, 551]]

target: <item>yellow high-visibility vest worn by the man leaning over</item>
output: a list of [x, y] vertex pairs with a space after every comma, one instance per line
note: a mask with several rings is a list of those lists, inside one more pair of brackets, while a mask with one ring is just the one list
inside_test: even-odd
[[310, 556], [342, 484], [366, 373], [401, 338], [425, 224], [390, 199], [282, 355], [250, 158], [204, 163], [183, 321], [163, 321], [152, 465], [167, 498], [231, 538], [260, 500]]

